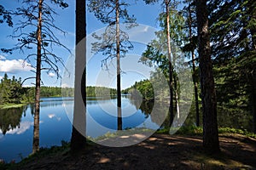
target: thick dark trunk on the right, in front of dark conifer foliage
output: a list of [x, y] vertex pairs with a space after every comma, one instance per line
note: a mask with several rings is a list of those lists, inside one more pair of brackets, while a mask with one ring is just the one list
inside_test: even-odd
[[196, 17], [199, 37], [199, 66], [201, 71], [200, 76], [203, 107], [203, 146], [210, 152], [218, 152], [217, 101], [212, 74], [207, 1], [196, 0]]

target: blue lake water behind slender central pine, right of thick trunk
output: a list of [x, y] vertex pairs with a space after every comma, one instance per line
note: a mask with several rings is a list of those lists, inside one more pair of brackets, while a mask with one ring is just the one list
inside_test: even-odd
[[[108, 132], [133, 127], [145, 127], [157, 129], [159, 125], [151, 120], [150, 113], [154, 103], [142, 102], [131, 99], [130, 96], [122, 96], [121, 121], [119, 122], [116, 99], [88, 100], [87, 101], [87, 135], [93, 138]], [[150, 106], [149, 106], [150, 105]]]

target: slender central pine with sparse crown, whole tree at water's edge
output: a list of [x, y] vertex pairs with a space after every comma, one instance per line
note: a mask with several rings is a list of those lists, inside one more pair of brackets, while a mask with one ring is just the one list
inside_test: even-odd
[[[118, 130], [122, 129], [121, 114], [121, 67], [120, 57], [124, 57], [133, 46], [128, 40], [125, 31], [121, 31], [119, 24], [123, 21], [126, 25], [133, 26], [135, 18], [128, 14], [126, 7], [129, 5], [122, 0], [90, 0], [89, 10], [93, 12], [98, 20], [107, 24], [106, 31], [101, 35], [94, 35], [99, 42], [93, 43], [93, 50], [102, 52], [106, 56], [102, 59], [103, 65], [107, 66], [108, 59], [116, 58], [117, 64], [117, 107], [118, 107]], [[129, 26], [127, 26], [129, 27]]]

